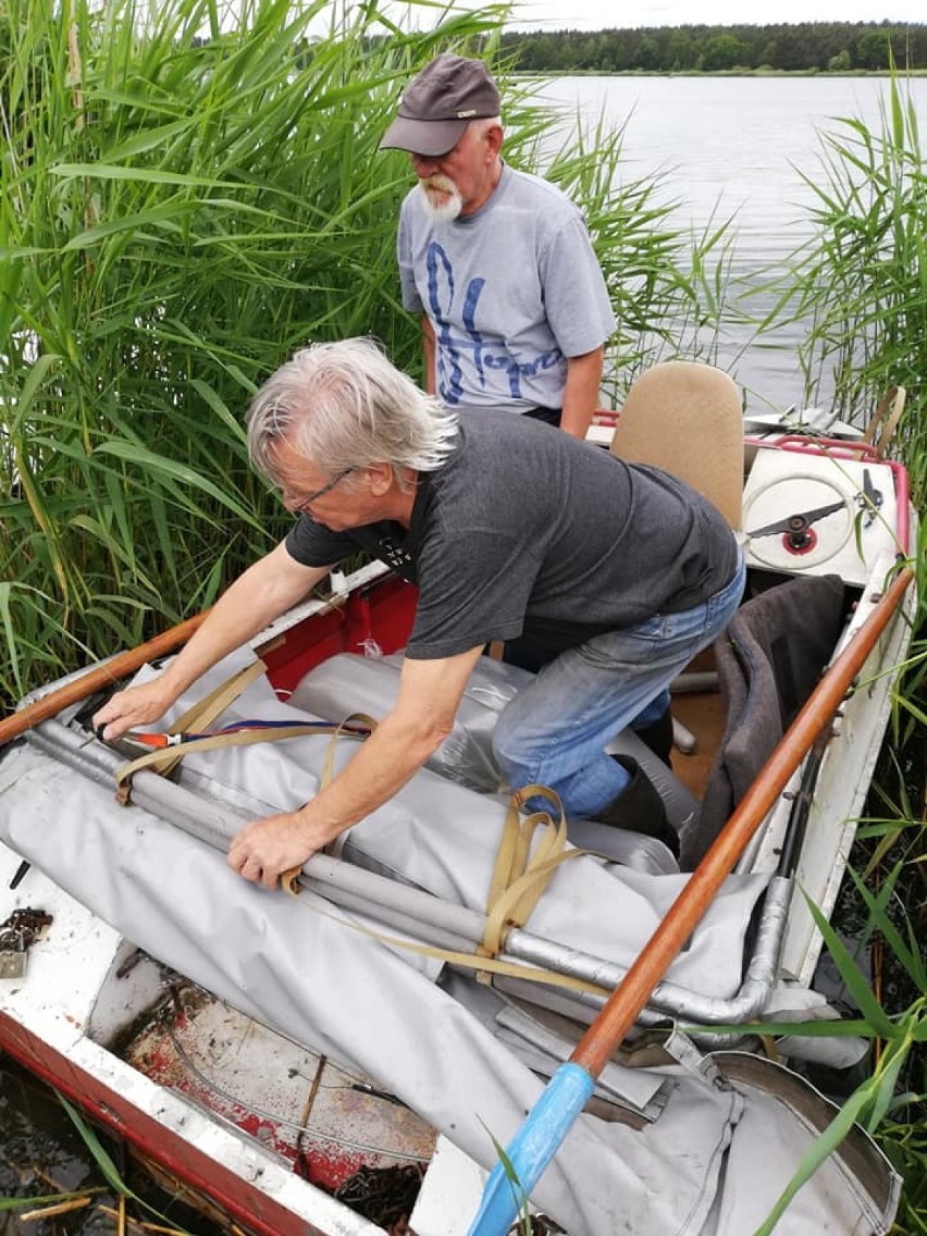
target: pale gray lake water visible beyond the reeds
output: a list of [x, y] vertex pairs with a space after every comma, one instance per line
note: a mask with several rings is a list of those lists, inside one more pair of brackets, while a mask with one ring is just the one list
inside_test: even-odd
[[[733, 218], [733, 271], [749, 278], [811, 235], [815, 194], [802, 173], [821, 179], [823, 135], [845, 141], [840, 117], [880, 133], [889, 89], [884, 78], [567, 77], [545, 83], [540, 98], [567, 117], [578, 110], [590, 126], [599, 116], [625, 125], [628, 178], [665, 173], [661, 192], [679, 203], [677, 222], [701, 231], [712, 218]], [[905, 89], [925, 133], [927, 79]], [[781, 407], [800, 404], [795, 352], [802, 334], [801, 326], [782, 328], [760, 346], [749, 342], [751, 331], [728, 330], [718, 363], [748, 392]]]

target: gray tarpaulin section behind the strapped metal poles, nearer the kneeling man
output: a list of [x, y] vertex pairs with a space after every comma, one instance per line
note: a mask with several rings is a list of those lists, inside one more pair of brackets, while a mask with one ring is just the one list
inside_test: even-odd
[[[201, 693], [231, 676], [239, 661], [226, 660], [198, 687]], [[173, 714], [190, 701], [180, 701]], [[341, 716], [325, 719], [342, 721]], [[304, 719], [282, 705], [261, 679], [229, 709], [224, 721]], [[184, 771], [192, 785], [213, 796], [232, 795], [256, 815], [292, 811], [311, 798], [330, 738], [292, 739], [262, 747], [227, 748], [189, 755]], [[336, 740], [335, 770], [356, 754], [357, 743]], [[506, 803], [423, 769], [389, 802], [350, 832], [346, 857], [373, 860], [421, 889], [475, 910], [485, 910], [498, 852]], [[561, 865], [530, 918], [530, 929], [618, 965], [629, 965], [660, 923], [687, 875], [650, 875], [604, 866], [580, 858]], [[758, 896], [760, 875], [729, 878], [669, 978], [708, 995], [730, 996], [743, 976], [744, 934]]]

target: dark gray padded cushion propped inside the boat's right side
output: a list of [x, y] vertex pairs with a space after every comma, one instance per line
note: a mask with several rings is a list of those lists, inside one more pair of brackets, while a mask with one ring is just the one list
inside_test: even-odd
[[796, 576], [744, 602], [716, 640], [724, 733], [698, 828], [682, 840], [684, 870], [703, 858], [815, 690], [843, 622], [839, 576]]

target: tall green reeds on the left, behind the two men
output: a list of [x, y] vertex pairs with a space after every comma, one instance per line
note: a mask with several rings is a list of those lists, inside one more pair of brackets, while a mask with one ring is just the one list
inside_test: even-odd
[[[376, 4], [234, 11], [9, 0], [0, 15], [6, 703], [204, 607], [281, 534], [241, 413], [297, 346], [372, 334], [420, 372], [394, 260], [410, 171], [377, 143], [412, 72], [446, 47], [492, 58], [506, 9], [447, 10], [426, 33]], [[545, 115], [499, 70], [507, 154], [531, 167]], [[646, 183], [616, 188], [620, 143], [599, 136], [567, 135], [551, 174], [586, 199], [616, 351], [639, 360], [641, 321], [685, 314], [705, 253]]]

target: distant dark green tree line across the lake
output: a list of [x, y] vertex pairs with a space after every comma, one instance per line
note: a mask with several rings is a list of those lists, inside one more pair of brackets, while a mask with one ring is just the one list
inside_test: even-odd
[[525, 73], [721, 73], [735, 69], [848, 73], [927, 68], [927, 25], [802, 22], [795, 26], [666, 26], [508, 31], [503, 52]]

